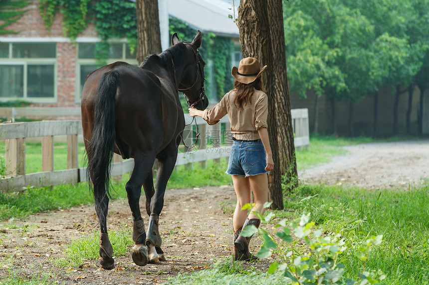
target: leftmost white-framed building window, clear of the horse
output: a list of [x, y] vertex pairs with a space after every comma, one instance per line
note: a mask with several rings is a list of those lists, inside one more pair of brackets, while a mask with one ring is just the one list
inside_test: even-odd
[[55, 43], [0, 43], [0, 98], [52, 101]]

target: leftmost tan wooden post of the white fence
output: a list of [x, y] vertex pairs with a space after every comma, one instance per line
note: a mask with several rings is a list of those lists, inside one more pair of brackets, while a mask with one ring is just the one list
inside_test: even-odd
[[24, 138], [5, 140], [5, 177], [25, 175], [24, 142]]

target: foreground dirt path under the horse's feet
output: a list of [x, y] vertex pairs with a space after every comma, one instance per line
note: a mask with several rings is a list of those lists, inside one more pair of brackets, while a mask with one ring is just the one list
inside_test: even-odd
[[[142, 198], [142, 209], [144, 202]], [[94, 227], [98, 230], [93, 206], [41, 213], [26, 221], [0, 222], [0, 276], [28, 277], [43, 271], [64, 284], [163, 283], [168, 277], [205, 269], [213, 259], [230, 255], [231, 211], [224, 213], [222, 208], [234, 204], [235, 193], [230, 186], [167, 190], [160, 216], [167, 261], [138, 267], [132, 262], [130, 246], [126, 256], [115, 259], [116, 269], [112, 271], [98, 269], [98, 261], [71, 270], [55, 265], [72, 240], [92, 234]], [[147, 227], [147, 220], [145, 224]], [[131, 231], [132, 219], [128, 202], [121, 199], [109, 205], [108, 229], [123, 227]]]

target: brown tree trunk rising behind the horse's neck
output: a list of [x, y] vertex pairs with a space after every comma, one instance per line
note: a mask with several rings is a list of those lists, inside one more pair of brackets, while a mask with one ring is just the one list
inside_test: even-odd
[[161, 48], [158, 0], [136, 0], [137, 15], [137, 62], [150, 54], [159, 54]]

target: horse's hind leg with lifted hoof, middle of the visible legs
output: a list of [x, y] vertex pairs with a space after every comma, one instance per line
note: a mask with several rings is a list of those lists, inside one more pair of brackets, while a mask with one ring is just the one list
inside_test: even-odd
[[135, 156], [134, 158], [134, 170], [130, 180], [125, 186], [128, 195], [128, 203], [130, 205], [131, 212], [133, 213], [133, 241], [135, 245], [133, 247], [133, 261], [138, 266], [145, 266], [148, 263], [147, 248], [145, 245], [146, 232], [144, 221], [140, 212], [140, 195], [142, 192], [142, 185], [149, 173], [152, 172], [152, 165], [155, 160], [149, 159], [147, 156]]

